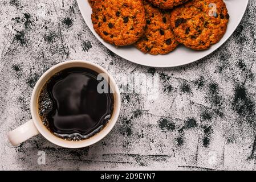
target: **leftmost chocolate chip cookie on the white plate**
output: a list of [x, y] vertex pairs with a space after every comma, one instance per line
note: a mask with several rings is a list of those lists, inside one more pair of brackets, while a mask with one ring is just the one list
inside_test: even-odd
[[144, 34], [146, 19], [141, 0], [98, 0], [92, 23], [99, 36], [115, 46], [128, 46]]

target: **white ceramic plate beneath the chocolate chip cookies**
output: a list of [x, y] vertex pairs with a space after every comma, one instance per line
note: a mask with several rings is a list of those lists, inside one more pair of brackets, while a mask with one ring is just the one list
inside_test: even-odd
[[99, 37], [94, 31], [94, 27], [91, 22], [91, 6], [88, 3], [88, 0], [77, 0], [79, 9], [83, 15], [84, 20], [86, 21], [87, 26], [90, 28], [92, 33], [100, 40], [112, 52], [116, 53], [120, 57], [132, 61], [133, 63], [149, 66], [149, 67], [177, 67], [180, 65], [185, 65], [192, 63], [194, 61], [200, 60], [203, 57], [209, 55], [217, 48], [219, 48], [227, 39], [233, 34], [238, 24], [241, 22], [243, 14], [245, 13], [247, 4], [249, 0], [224, 0], [229, 11], [230, 21], [227, 27], [227, 32], [220, 42], [213, 45], [210, 49], [206, 51], [193, 51], [184, 46], [178, 46], [176, 50], [170, 52], [167, 55], [149, 55], [144, 54], [133, 46], [128, 47], [115, 47], [111, 44], [104, 42], [103, 39]]

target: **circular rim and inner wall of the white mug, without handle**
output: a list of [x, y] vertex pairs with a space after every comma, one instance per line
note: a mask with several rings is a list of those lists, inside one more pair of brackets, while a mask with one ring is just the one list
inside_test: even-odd
[[[101, 73], [105, 73], [108, 76], [109, 85], [115, 87], [115, 88], [111, 88], [114, 90], [113, 94], [114, 94], [114, 104], [115, 104], [111, 119], [109, 119], [109, 122], [107, 123], [107, 125], [105, 125], [104, 128], [99, 131], [99, 133], [95, 134], [94, 136], [88, 139], [79, 140], [79, 141], [70, 141], [70, 140], [64, 140], [62, 138], [56, 137], [43, 125], [43, 122], [40, 119], [38, 114], [38, 96], [39, 96], [40, 90], [42, 90], [42, 86], [52, 76], [51, 75], [52, 73], [58, 73], [63, 69], [66, 69], [66, 68], [63, 68], [65, 65], [67, 66], [66, 68], [81, 67], [81, 65], [84, 65], [84, 68], [90, 67], [88, 69], [92, 69], [93, 71], [96, 71], [94, 69], [97, 69]], [[62, 69], [59, 69], [59, 71], [56, 71], [56, 69], [58, 68], [62, 68]], [[99, 73], [99, 71], [97, 73]], [[89, 61], [84, 61], [84, 60], [64, 61], [63, 63], [54, 65], [53, 67], [48, 69], [46, 72], [44, 72], [43, 75], [40, 76], [39, 80], [36, 82], [36, 85], [32, 92], [31, 101], [30, 101], [30, 111], [32, 115], [32, 121], [34, 122], [36, 129], [38, 129], [39, 133], [43, 135], [43, 137], [46, 138], [49, 142], [65, 148], [88, 147], [88, 146], [91, 146], [92, 144], [99, 142], [101, 139], [105, 138], [115, 126], [117, 119], [119, 118], [120, 108], [121, 108], [120, 91], [116, 84], [115, 79], [112, 77], [110, 73], [108, 73], [100, 65], [91, 63]]]

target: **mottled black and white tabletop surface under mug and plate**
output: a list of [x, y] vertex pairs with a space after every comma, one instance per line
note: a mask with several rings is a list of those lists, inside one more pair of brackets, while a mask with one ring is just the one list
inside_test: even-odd
[[[109, 52], [75, 0], [2, 0], [0, 169], [256, 169], [255, 6], [251, 0], [237, 31], [205, 59], [155, 69]], [[74, 59], [97, 63], [114, 77], [159, 73], [159, 100], [122, 94], [117, 125], [88, 148], [60, 148], [41, 136], [12, 147], [6, 133], [30, 119], [36, 80]], [[37, 164], [38, 151], [46, 152], [45, 166]]]

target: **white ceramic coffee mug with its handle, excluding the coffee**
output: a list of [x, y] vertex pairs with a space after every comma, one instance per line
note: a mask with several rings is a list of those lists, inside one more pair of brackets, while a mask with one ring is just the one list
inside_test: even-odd
[[[115, 99], [113, 114], [111, 119], [109, 119], [109, 122], [107, 123], [107, 125], [101, 131], [99, 131], [99, 133], [97, 133], [96, 135], [80, 141], [69, 141], [69, 140], [64, 140], [62, 138], [56, 137], [43, 125], [43, 122], [41, 121], [38, 113], [38, 97], [39, 97], [40, 90], [42, 90], [44, 84], [46, 84], [46, 82], [56, 73], [62, 71], [63, 69], [73, 68], [73, 67], [83, 67], [83, 68], [91, 69], [97, 73], [103, 73], [103, 75], [105, 75], [104, 79], [108, 81], [108, 84], [111, 87], [111, 90], [114, 91], [113, 96]], [[17, 129], [10, 131], [7, 134], [7, 137], [11, 142], [11, 144], [13, 144], [13, 146], [18, 146], [18, 144], [25, 142], [27, 139], [30, 139], [35, 135], [42, 134], [43, 137], [49, 140], [51, 143], [54, 143], [61, 147], [66, 147], [66, 148], [87, 147], [96, 142], [99, 142], [99, 140], [103, 139], [113, 129], [113, 126], [115, 126], [117, 118], [119, 117], [120, 107], [121, 107], [121, 99], [120, 99], [119, 88], [115, 80], [113, 79], [113, 77], [107, 71], [105, 71], [105, 69], [103, 69], [99, 65], [90, 63], [88, 61], [79, 61], [79, 60], [66, 61], [64, 63], [60, 63], [50, 68], [46, 73], [44, 73], [39, 78], [32, 92], [32, 97], [31, 97], [30, 110], [31, 110], [32, 119], [27, 123], [25, 123], [24, 125], [19, 126]]]

